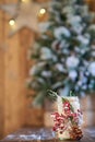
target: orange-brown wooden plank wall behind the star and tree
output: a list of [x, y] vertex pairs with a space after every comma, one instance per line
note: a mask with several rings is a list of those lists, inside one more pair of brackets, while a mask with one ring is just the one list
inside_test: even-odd
[[[0, 4], [13, 2], [17, 0], [0, 0]], [[94, 10], [95, 1], [87, 2]], [[0, 10], [0, 138], [21, 127], [43, 125], [43, 110], [28, 107], [31, 99], [26, 98], [25, 87], [28, 67], [33, 63], [27, 61], [27, 49], [35, 35], [23, 28], [8, 38], [9, 17]]]

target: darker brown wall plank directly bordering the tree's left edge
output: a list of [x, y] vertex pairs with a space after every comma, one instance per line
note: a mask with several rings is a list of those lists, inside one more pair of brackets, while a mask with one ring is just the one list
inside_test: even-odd
[[[28, 78], [28, 70], [34, 63], [33, 61], [28, 61], [27, 52], [29, 47], [35, 40], [35, 34], [28, 28], [24, 28], [19, 34], [20, 40], [20, 78], [21, 78], [21, 90], [24, 96], [24, 126], [43, 126], [43, 110], [37, 108], [32, 108], [29, 105], [32, 104], [32, 99], [26, 97], [28, 95], [28, 91], [25, 87], [25, 81]], [[32, 92], [31, 92], [32, 95]], [[29, 117], [27, 117], [29, 116]]]

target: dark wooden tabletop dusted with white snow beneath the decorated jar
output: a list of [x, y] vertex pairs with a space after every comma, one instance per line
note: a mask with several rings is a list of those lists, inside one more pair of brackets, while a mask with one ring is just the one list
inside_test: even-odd
[[[84, 137], [80, 140], [80, 142], [95, 142], [95, 128], [84, 129], [83, 133]], [[51, 129], [40, 128], [21, 129], [12, 134], [9, 134], [0, 142], [59, 142], [59, 140], [56, 139]]]

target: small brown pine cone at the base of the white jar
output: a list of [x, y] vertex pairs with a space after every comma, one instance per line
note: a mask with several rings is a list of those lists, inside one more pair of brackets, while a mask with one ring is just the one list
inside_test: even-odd
[[70, 130], [70, 138], [73, 140], [80, 140], [82, 137], [83, 133], [79, 126], [73, 126]]

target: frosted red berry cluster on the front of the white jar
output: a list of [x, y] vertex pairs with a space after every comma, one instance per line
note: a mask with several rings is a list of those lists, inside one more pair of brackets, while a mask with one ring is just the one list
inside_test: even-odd
[[79, 109], [78, 109], [78, 113], [74, 113], [70, 103], [64, 102], [63, 114], [59, 114], [59, 113], [51, 114], [51, 117], [54, 118], [54, 122], [55, 122], [52, 130], [63, 133], [66, 129], [69, 129], [70, 122], [74, 125], [79, 123], [79, 116], [82, 113]]

